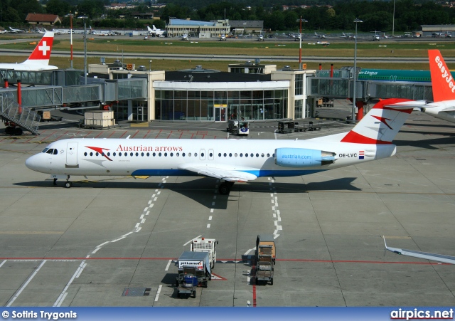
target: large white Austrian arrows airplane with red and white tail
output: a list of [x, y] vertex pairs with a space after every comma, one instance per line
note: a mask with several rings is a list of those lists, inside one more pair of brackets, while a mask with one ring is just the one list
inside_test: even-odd
[[222, 179], [220, 194], [235, 181], [295, 177], [391, 157], [392, 140], [413, 106], [409, 100], [378, 102], [350, 132], [310, 140], [58, 140], [26, 160], [36, 172], [70, 176], [205, 176]]

